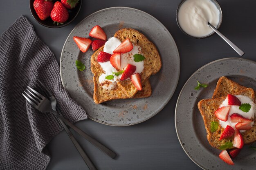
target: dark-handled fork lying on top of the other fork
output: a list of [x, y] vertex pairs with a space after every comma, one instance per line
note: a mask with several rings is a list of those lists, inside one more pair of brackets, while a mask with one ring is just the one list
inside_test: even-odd
[[[30, 88], [28, 86], [29, 90], [27, 89], [27, 91], [34, 97], [32, 97], [31, 95], [29, 95], [28, 93], [26, 93], [31, 99], [29, 99], [29, 97], [27, 97], [26, 95], [24, 95], [22, 93], [22, 95], [27, 99], [27, 101], [32, 104], [32, 106], [34, 106], [36, 109], [38, 109], [39, 111], [43, 112], [43, 113], [53, 113], [56, 117], [58, 117], [60, 120], [62, 120], [63, 122], [65, 122], [65, 124], [67, 124], [68, 126], [70, 126], [70, 128], [74, 129], [76, 132], [78, 132], [81, 136], [83, 136], [85, 139], [87, 139], [91, 144], [93, 144], [94, 146], [96, 146], [98, 149], [100, 149], [101, 151], [103, 151], [104, 153], [106, 153], [108, 156], [110, 156], [112, 159], [115, 158], [116, 154], [115, 152], [113, 152], [112, 150], [106, 148], [106, 146], [103, 146], [101, 143], [99, 143], [97, 140], [95, 140], [94, 138], [90, 137], [88, 134], [86, 134], [85, 132], [83, 132], [83, 130], [79, 129], [78, 127], [76, 127], [75, 125], [73, 125], [70, 121], [68, 121], [67, 119], [65, 119], [64, 117], [62, 117], [61, 115], [58, 115], [58, 113], [56, 113], [56, 109], [52, 108], [52, 103], [49, 101], [49, 99], [47, 99], [46, 97], [44, 97], [43, 95], [41, 95], [40, 93], [38, 93], [37, 91], [35, 91], [33, 88]], [[47, 89], [47, 88], [45, 88]], [[32, 92], [33, 93], [32, 93]], [[48, 91], [48, 90], [47, 90]], [[52, 94], [52, 93], [50, 93]], [[52, 95], [52, 97], [54, 97]], [[52, 98], [51, 97], [51, 98]], [[38, 101], [37, 101], [38, 100]], [[51, 101], [53, 101], [53, 105], [54, 104], [54, 100], [56, 101], [56, 99], [51, 99]]]

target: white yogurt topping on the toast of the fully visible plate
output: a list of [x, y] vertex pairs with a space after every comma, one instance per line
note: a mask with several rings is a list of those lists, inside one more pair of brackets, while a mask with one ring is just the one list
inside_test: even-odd
[[[103, 51], [109, 54], [113, 54], [113, 51], [121, 44], [121, 41], [118, 38], [115, 37], [111, 37], [108, 39], [108, 41], [105, 43]], [[136, 66], [136, 71], [135, 73], [141, 73], [144, 69], [144, 61], [141, 62], [135, 62], [133, 59], [133, 55], [135, 54], [142, 54], [141, 52], [141, 47], [140, 46], [136, 46], [133, 44], [133, 49], [132, 51], [128, 52], [128, 53], [124, 53], [121, 54], [121, 70], [124, 70], [124, 68], [126, 67], [127, 64], [132, 64], [134, 66]], [[115, 69], [110, 61], [108, 62], [99, 62], [99, 64], [101, 65], [101, 68], [103, 69], [103, 71], [105, 72], [105, 74], [102, 74], [99, 76], [99, 82], [101, 84], [103, 84], [103, 88], [106, 89], [113, 89], [115, 88], [115, 86], [117, 85], [116, 82], [119, 81], [119, 79], [121, 78], [121, 75], [119, 76], [114, 76], [113, 79], [108, 80], [105, 77], [107, 75], [112, 75], [113, 72], [118, 72], [117, 69]], [[128, 78], [129, 79], [129, 78]], [[110, 84], [111, 82], [111, 84]]]

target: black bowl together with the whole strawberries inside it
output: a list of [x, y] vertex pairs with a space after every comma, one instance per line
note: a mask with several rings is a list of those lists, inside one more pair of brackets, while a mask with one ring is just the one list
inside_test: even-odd
[[30, 0], [30, 12], [41, 25], [61, 28], [78, 15], [82, 0]]

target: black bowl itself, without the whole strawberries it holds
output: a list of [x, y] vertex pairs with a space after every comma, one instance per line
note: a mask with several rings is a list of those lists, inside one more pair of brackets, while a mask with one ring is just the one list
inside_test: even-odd
[[[54, 0], [53, 2], [56, 2], [56, 0]], [[74, 7], [73, 9], [67, 9], [68, 13], [69, 13], [69, 17], [67, 19], [67, 21], [65, 22], [65, 24], [54, 24], [52, 21], [51, 17], [48, 17], [46, 20], [40, 20], [40, 18], [38, 17], [38, 15], [36, 14], [36, 11], [34, 9], [33, 6], [34, 0], [30, 0], [29, 2], [29, 8], [30, 8], [30, 12], [32, 14], [32, 16], [34, 17], [34, 19], [41, 25], [43, 26], [47, 26], [49, 28], [61, 28], [63, 26], [66, 26], [68, 24], [70, 24], [70, 22], [72, 22], [76, 16], [78, 15], [81, 7], [82, 7], [82, 0], [79, 0], [78, 4], [76, 5], [76, 7]]]

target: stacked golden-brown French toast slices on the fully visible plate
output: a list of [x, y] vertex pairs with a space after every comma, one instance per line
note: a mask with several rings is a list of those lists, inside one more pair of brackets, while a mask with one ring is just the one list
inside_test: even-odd
[[[112, 90], [103, 88], [102, 85], [99, 84], [99, 76], [103, 74], [104, 71], [100, 64], [97, 62], [97, 56], [100, 51], [103, 51], [104, 46], [102, 46], [97, 51], [95, 51], [91, 57], [91, 70], [94, 74], [94, 102], [96, 104], [100, 104], [112, 99], [149, 97], [152, 93], [152, 90], [148, 79], [151, 74], [157, 73], [162, 66], [160, 55], [155, 45], [150, 42], [142, 33], [139, 33], [134, 29], [121, 29], [117, 31], [114, 36], [121, 41], [129, 38], [133, 44], [139, 45], [141, 47], [141, 51], [145, 56], [144, 70], [141, 73], [142, 91], [138, 91], [130, 80], [117, 82], [117, 86], [115, 86], [115, 88]], [[152, 66], [150, 66], [150, 64], [152, 64]]]

